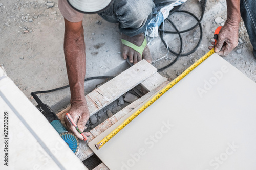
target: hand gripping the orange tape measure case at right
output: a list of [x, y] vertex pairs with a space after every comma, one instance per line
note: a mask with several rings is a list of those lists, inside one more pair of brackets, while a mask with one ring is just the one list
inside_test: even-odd
[[229, 23], [226, 21], [225, 25], [221, 28], [218, 35], [218, 40], [215, 45], [214, 42], [209, 46], [209, 50], [215, 47], [214, 51], [220, 56], [228, 55], [238, 45], [238, 23]]

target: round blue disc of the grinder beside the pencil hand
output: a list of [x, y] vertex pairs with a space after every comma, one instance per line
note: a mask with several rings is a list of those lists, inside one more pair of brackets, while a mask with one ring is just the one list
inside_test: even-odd
[[76, 154], [79, 149], [78, 138], [70, 132], [60, 134], [61, 138], [69, 145], [69, 148]]

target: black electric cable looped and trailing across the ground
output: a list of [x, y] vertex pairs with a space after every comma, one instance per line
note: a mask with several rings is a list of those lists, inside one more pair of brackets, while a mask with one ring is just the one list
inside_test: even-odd
[[[170, 16], [170, 15], [172, 15], [172, 14], [175, 13], [175, 12], [183, 12], [183, 13], [187, 13], [187, 14], [193, 16], [193, 17], [197, 20], [196, 25], [194, 25], [193, 27], [191, 27], [191, 28], [189, 28], [189, 29], [187, 29], [187, 30], [179, 31], [179, 30], [177, 29], [177, 27], [175, 26], [175, 24], [174, 24], [169, 18], [167, 18], [166, 20], [174, 27], [174, 29], [175, 29], [176, 31], [165, 31], [165, 30], [162, 30], [161, 28], [163, 27], [163, 23], [160, 25], [160, 27], [159, 27], [160, 38], [161, 38], [161, 40], [162, 40], [164, 46], [167, 48], [167, 50], [168, 50], [169, 52], [173, 53], [173, 54], [176, 55], [177, 57], [176, 57], [176, 58], [174, 59], [174, 61], [172, 61], [170, 64], [164, 66], [163, 68], [158, 69], [158, 72], [160, 72], [160, 71], [162, 71], [162, 70], [164, 70], [164, 69], [170, 67], [171, 65], [173, 65], [181, 56], [187, 56], [187, 55], [189, 55], [189, 54], [191, 54], [191, 53], [194, 53], [194, 52], [197, 50], [199, 44], [200, 44], [201, 41], [202, 41], [202, 36], [203, 36], [201, 21], [202, 21], [203, 16], [204, 16], [206, 0], [201, 0], [201, 1], [200, 1], [200, 4], [201, 4], [201, 9], [202, 9], [202, 14], [201, 14], [200, 19], [198, 19], [194, 14], [192, 14], [192, 13], [190, 13], [190, 12], [188, 12], [188, 11], [183, 11], [183, 10], [182, 10], [182, 11], [178, 11], [181, 6], [175, 7], [175, 8], [170, 12], [170, 14], [169, 14], [169, 16]], [[165, 22], [165, 21], [164, 21], [164, 22]], [[182, 54], [182, 50], [183, 50], [183, 49], [182, 49], [182, 45], [183, 45], [183, 42], [182, 42], [181, 33], [185, 33], [185, 32], [191, 31], [191, 30], [195, 29], [198, 25], [199, 25], [199, 28], [200, 28], [200, 38], [199, 38], [199, 41], [198, 41], [196, 47], [193, 48], [193, 50], [191, 50], [190, 52], [185, 53], [185, 54]], [[179, 53], [176, 53], [176, 52], [172, 51], [172, 50], [167, 46], [165, 40], [163, 39], [163, 33], [166, 33], [166, 34], [178, 34], [178, 35], [179, 35], [179, 38], [180, 38], [180, 51], [179, 51]], [[96, 77], [86, 78], [86, 79], [84, 79], [84, 81], [93, 80], [93, 79], [112, 79], [112, 78], [114, 78], [114, 77], [115, 77], [115, 76], [96, 76]], [[42, 101], [38, 98], [38, 96], [37, 96], [36, 94], [54, 92], [54, 91], [57, 91], [57, 90], [65, 89], [65, 88], [67, 88], [67, 87], [69, 87], [69, 85], [62, 86], [62, 87], [59, 87], [59, 88], [55, 88], [55, 89], [52, 89], [52, 90], [35, 91], [35, 92], [31, 92], [31, 95], [33, 96], [33, 98], [35, 99], [35, 101], [36, 101], [38, 104], [43, 104]]]

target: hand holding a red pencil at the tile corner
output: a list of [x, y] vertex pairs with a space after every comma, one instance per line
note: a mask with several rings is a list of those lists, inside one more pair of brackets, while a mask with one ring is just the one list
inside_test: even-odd
[[[80, 132], [83, 132], [86, 129], [86, 122], [90, 117], [89, 116], [90, 113], [89, 113], [86, 101], [73, 103], [68, 113], [73, 118]], [[76, 130], [76, 128], [72, 124], [69, 123], [69, 120], [67, 119], [66, 116], [64, 118], [64, 121], [68, 127], [68, 130], [73, 134], [75, 134], [78, 137], [78, 139], [83, 140], [82, 135]], [[83, 134], [86, 136], [90, 135], [90, 133], [88, 132], [83, 132]]]

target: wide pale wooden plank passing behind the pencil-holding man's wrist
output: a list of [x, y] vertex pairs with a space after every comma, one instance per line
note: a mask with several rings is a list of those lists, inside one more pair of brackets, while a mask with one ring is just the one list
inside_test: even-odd
[[[109, 82], [96, 88], [91, 93], [86, 95], [87, 105], [90, 116], [110, 104], [122, 94], [126, 93], [142, 81], [151, 77], [157, 72], [157, 69], [145, 60], [140, 61], [129, 69], [123, 71], [120, 75], [116, 76]], [[64, 124], [64, 115], [70, 107], [59, 112], [57, 116]]]

